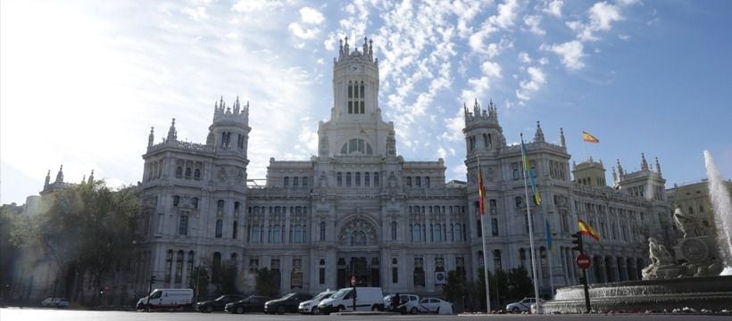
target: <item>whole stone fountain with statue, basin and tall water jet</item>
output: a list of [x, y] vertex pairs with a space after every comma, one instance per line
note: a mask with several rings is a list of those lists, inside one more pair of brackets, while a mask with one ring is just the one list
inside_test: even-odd
[[[691, 308], [720, 311], [732, 309], [732, 207], [729, 193], [709, 151], [704, 151], [714, 228], [697, 218], [674, 211], [674, 221], [684, 236], [674, 246], [675, 256], [651, 237], [651, 265], [643, 269], [642, 281], [590, 284], [595, 311], [671, 311]], [[582, 313], [581, 285], [557, 289], [554, 300], [544, 304], [545, 313]]]

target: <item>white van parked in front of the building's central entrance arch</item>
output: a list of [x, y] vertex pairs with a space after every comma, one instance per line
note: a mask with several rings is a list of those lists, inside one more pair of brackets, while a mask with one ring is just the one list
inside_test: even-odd
[[344, 312], [354, 310], [354, 294], [356, 297], [356, 311], [376, 311], [384, 309], [384, 292], [380, 287], [343, 288], [330, 298], [321, 300], [318, 310], [321, 314], [330, 312]]

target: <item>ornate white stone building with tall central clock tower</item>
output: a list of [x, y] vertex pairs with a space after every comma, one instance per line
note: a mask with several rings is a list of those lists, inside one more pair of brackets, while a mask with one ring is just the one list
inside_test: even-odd
[[[237, 265], [237, 286], [245, 292], [254, 290], [254, 270], [265, 267], [279, 272], [283, 293], [347, 286], [352, 274], [358, 284], [385, 292], [439, 292], [446, 271], [476, 276], [482, 237], [491, 270], [530, 268], [520, 146], [506, 144], [493, 103], [464, 107], [467, 183], [446, 183], [442, 159], [405, 161], [396, 152], [394, 124], [378, 106], [378, 59], [370, 42], [351, 50], [346, 39], [340, 46], [333, 107], [319, 124], [317, 155], [270, 159], [262, 186], [247, 185], [248, 111], [238, 99], [217, 102], [205, 144], [179, 141], [174, 119], [160, 144], [151, 130], [139, 192], [146, 240], [137, 292], [151, 275], [158, 287], [188, 287], [193, 268], [215, 274], [227, 262]], [[578, 283], [570, 250], [577, 218], [603, 235], [586, 242], [595, 258], [591, 281], [639, 278], [645, 239], [670, 224], [660, 166], [649, 169], [644, 158], [640, 171], [626, 173], [619, 162], [613, 188], [604, 182], [602, 162], [576, 165], [570, 179], [563, 133], [560, 145], [548, 143], [537, 123], [527, 147], [544, 199], [532, 206], [542, 292], [551, 291], [550, 269], [554, 286]], [[556, 251], [545, 248], [545, 219]]]

